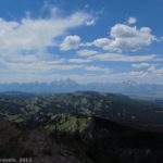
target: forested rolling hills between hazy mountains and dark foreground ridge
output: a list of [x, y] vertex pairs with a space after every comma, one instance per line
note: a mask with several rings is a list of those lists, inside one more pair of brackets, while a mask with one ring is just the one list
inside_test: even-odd
[[47, 122], [54, 114], [96, 115], [117, 122], [162, 123], [163, 105], [126, 96], [84, 91], [58, 95], [5, 92], [0, 95], [0, 117], [12, 122]]

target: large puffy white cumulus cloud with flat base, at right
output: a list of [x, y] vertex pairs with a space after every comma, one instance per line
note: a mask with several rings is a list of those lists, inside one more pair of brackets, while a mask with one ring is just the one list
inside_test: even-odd
[[150, 46], [156, 37], [149, 27], [137, 28], [125, 24], [115, 24], [110, 32], [110, 38], [98, 38], [85, 46], [96, 46], [108, 51], [137, 51]]

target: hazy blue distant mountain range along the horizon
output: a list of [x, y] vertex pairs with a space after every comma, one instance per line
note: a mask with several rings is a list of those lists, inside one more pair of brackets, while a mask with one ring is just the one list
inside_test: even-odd
[[91, 83], [79, 84], [72, 79], [54, 80], [52, 83], [10, 83], [0, 84], [0, 92], [4, 91], [21, 91], [35, 93], [58, 93], [73, 91], [104, 91], [114, 93], [124, 93], [135, 98], [154, 98], [163, 99], [163, 85], [159, 84], [138, 84], [133, 80], [123, 83]]

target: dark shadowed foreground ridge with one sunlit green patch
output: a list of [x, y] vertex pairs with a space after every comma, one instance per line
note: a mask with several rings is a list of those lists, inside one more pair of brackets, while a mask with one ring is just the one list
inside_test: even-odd
[[0, 122], [0, 158], [34, 163], [161, 163], [163, 133], [100, 117], [58, 114], [34, 129]]

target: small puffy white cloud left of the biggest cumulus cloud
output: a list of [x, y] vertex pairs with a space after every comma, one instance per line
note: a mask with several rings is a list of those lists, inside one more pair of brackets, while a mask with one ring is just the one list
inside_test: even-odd
[[60, 49], [63, 51], [78, 49], [80, 45], [80, 37], [77, 35], [66, 36], [63, 42], [60, 45]]

